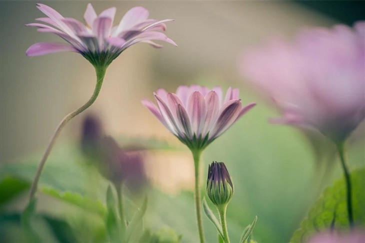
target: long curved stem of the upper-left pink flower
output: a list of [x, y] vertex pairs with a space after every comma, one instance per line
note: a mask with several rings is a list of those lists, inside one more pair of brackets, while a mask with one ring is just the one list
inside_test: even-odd
[[70, 119], [72, 119], [73, 117], [75, 117], [76, 115], [78, 115], [79, 113], [84, 111], [85, 109], [87, 109], [95, 101], [97, 95], [100, 92], [100, 88], [101, 88], [101, 85], [102, 85], [102, 81], [104, 80], [104, 76], [105, 76], [107, 66], [94, 66], [94, 67], [95, 67], [95, 71], [96, 71], [96, 85], [95, 85], [94, 92], [93, 92], [91, 98], [84, 105], [82, 105], [81, 107], [79, 107], [75, 111], [73, 111], [73, 112], [67, 114], [66, 116], [64, 116], [63, 119], [61, 120], [61, 122], [58, 124], [57, 128], [55, 129], [55, 131], [53, 133], [53, 136], [51, 137], [51, 139], [48, 143], [47, 149], [45, 150], [45, 152], [43, 154], [43, 157], [39, 162], [37, 171], [35, 173], [33, 182], [31, 184], [30, 193], [29, 193], [29, 201], [31, 201], [31, 199], [33, 198], [33, 196], [36, 192], [40, 173], [43, 169], [43, 166], [45, 164], [45, 161], [47, 160], [47, 157], [48, 157], [50, 151], [52, 150], [54, 142], [56, 141], [56, 139], [57, 139], [59, 133], [61, 132], [62, 128], [67, 124], [67, 122]]

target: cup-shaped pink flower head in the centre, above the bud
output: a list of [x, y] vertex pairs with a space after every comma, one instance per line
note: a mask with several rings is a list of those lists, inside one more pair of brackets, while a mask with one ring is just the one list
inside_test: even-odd
[[242, 107], [238, 92], [229, 87], [223, 99], [220, 87], [179, 86], [176, 94], [153, 93], [157, 106], [147, 99], [142, 103], [189, 148], [204, 148], [255, 105]]

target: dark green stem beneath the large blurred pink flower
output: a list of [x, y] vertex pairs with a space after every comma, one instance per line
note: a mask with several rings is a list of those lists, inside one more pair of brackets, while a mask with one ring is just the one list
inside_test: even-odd
[[352, 214], [351, 179], [350, 179], [350, 174], [349, 174], [347, 166], [346, 166], [346, 159], [345, 159], [345, 155], [344, 155], [344, 142], [340, 142], [337, 144], [337, 150], [338, 150], [339, 158], [341, 160], [343, 175], [344, 175], [345, 182], [346, 182], [348, 222], [350, 224], [350, 227], [352, 227], [353, 226], [353, 214]]

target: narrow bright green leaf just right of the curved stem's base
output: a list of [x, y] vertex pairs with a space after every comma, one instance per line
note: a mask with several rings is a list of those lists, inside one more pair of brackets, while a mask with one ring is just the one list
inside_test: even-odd
[[96, 213], [101, 217], [106, 215], [106, 208], [98, 199], [93, 199], [72, 191], [59, 191], [49, 186], [43, 186], [40, 191], [64, 202], [81, 207], [86, 211]]

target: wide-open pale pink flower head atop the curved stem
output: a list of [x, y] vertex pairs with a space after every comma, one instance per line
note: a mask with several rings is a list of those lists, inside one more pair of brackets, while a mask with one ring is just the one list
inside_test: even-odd
[[116, 26], [112, 26], [115, 7], [105, 9], [97, 15], [91, 3], [88, 3], [84, 14], [86, 25], [74, 18], [63, 17], [47, 5], [38, 3], [37, 8], [48, 17], [40, 17], [35, 20], [46, 24], [29, 23], [26, 25], [37, 27], [39, 32], [55, 33], [67, 43], [35, 43], [26, 50], [26, 54], [29, 56], [75, 51], [82, 54], [92, 64], [110, 64], [124, 49], [138, 42], [162, 47], [152, 40], [163, 40], [176, 45], [165, 34], [158, 32], [165, 30], [164, 22], [172, 21], [172, 19], [149, 19], [147, 18], [148, 10], [140, 6], [127, 11]]

